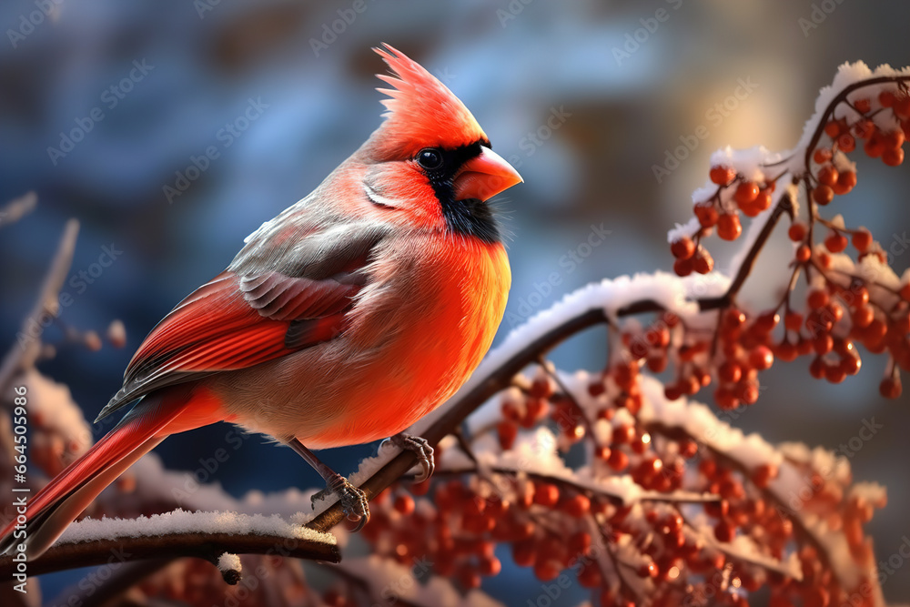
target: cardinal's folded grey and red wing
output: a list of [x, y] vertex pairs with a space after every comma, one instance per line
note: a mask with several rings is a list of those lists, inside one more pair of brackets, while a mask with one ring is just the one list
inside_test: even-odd
[[152, 329], [97, 420], [153, 389], [335, 339], [348, 327], [382, 237], [375, 227], [355, 224], [288, 225], [254, 238], [227, 270]]

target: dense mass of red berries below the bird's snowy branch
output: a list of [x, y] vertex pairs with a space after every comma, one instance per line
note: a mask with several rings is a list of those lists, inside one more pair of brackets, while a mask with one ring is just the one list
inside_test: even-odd
[[[725, 320], [725, 330], [748, 332], [744, 321], [734, 327], [733, 320]], [[798, 452], [781, 458], [804, 479], [784, 501], [770, 489], [778, 478], [777, 464], [747, 464], [678, 428], [642, 420], [641, 369], [649, 364], [642, 360], [659, 359], [655, 351], [670, 341], [664, 331], [679, 327], [679, 319], [662, 315], [645, 331], [652, 332], [647, 351], [636, 349], [640, 356], [634, 361], [621, 357], [623, 362], [586, 376], [571, 390], [583, 394], [566, 393], [546, 370], [531, 380], [518, 376], [501, 395], [497, 422], [477, 436], [463, 437], [459, 445], [451, 441], [437, 450], [439, 468], [430, 481], [393, 486], [371, 502], [363, 537], [379, 555], [406, 566], [432, 562], [435, 574], [464, 589], [477, 588], [501, 571], [498, 546], [506, 545], [512, 560], [530, 568], [541, 582], [568, 575], [591, 589], [593, 604], [603, 607], [640, 604], [635, 589], [642, 582], [652, 605], [703, 596], [709, 602], [746, 606], [748, 592], [762, 588], [770, 589], [781, 607], [826, 607], [846, 600], [856, 589], [838, 585], [832, 563], [807, 539], [806, 529], [796, 526], [804, 514], [819, 517], [831, 531], [842, 531], [854, 558], [864, 562], [869, 548], [863, 525], [873, 508], [884, 504], [851, 492], [849, 475], [832, 471], [843, 468], [825, 468], [811, 457], [800, 460]], [[623, 339], [626, 349], [640, 343], [631, 334]], [[770, 366], [766, 346], [749, 352], [750, 369]], [[610, 424], [609, 432], [591, 430], [603, 423]], [[470, 450], [485, 432], [495, 433], [505, 452], [544, 425], [571, 436], [561, 443], [563, 452], [574, 442], [586, 445], [588, 458], [578, 467], [591, 470], [594, 481], [495, 467], [447, 469], [450, 451]], [[604, 436], [609, 439], [601, 442]], [[618, 474], [664, 497], [625, 504], [595, 489], [597, 481]], [[683, 509], [673, 491], [715, 499], [701, 503], [700, 511], [699, 504]], [[751, 558], [729, 548], [743, 537], [754, 547]], [[798, 556], [802, 577], [785, 564], [791, 552]], [[871, 598], [857, 604], [871, 605]]]

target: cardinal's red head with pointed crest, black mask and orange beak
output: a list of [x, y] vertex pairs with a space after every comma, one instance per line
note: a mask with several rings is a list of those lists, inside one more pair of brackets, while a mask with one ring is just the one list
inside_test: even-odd
[[375, 49], [392, 75], [378, 75], [387, 112], [355, 155], [366, 166], [372, 212], [413, 227], [499, 240], [486, 201], [522, 181], [447, 86], [400, 51]]

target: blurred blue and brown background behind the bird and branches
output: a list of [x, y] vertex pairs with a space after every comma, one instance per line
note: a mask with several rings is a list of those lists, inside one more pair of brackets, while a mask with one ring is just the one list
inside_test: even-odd
[[[73, 303], [60, 320], [103, 331], [122, 319], [127, 345], [62, 349], [43, 369], [94, 419], [157, 320], [379, 125], [373, 75], [384, 65], [370, 47], [380, 42], [450, 86], [525, 178], [499, 205], [514, 274], [501, 339], [591, 280], [669, 270], [666, 231], [690, 217], [711, 152], [728, 144], [793, 147], [838, 65], [910, 64], [908, 22], [907, 3], [834, 0], [5, 0], [0, 203], [35, 190], [38, 207], [14, 226], [0, 225], [2, 345], [15, 347], [64, 223], [78, 218], [76, 278], [65, 287]], [[668, 160], [700, 127], [707, 137]], [[217, 157], [205, 163], [208, 147]], [[655, 175], [655, 166], [666, 171]], [[848, 225], [870, 228], [886, 249], [903, 242], [892, 249], [903, 271], [910, 171], [861, 160], [859, 178], [836, 211]], [[594, 227], [610, 235], [582, 263], [567, 263], [570, 252], [587, 252], [579, 245]], [[723, 268], [723, 248], [711, 246]], [[105, 248], [116, 258], [93, 274]], [[789, 254], [768, 251], [780, 263]], [[77, 278], [80, 271], [88, 278]], [[554, 272], [557, 285], [548, 282]], [[602, 365], [603, 343], [591, 331], [555, 359], [593, 369]], [[836, 387], [809, 378], [805, 359], [777, 365], [763, 376], [762, 402], [726, 419], [771, 441], [830, 449], [864, 419], [883, 424], [851, 464], [854, 479], [888, 488], [889, 504], [869, 527], [884, 561], [910, 535], [910, 416], [906, 397], [878, 397], [884, 360], [864, 362], [859, 376]], [[225, 431], [173, 437], [157, 452], [167, 467], [193, 470]], [[347, 473], [375, 448], [324, 455]], [[259, 437], [217, 481], [235, 495], [319, 484], [296, 455]], [[47, 578], [45, 596], [77, 579]], [[485, 588], [524, 604], [522, 588], [536, 596], [539, 582], [509, 566]], [[910, 574], [888, 577], [884, 590], [891, 602], [910, 600]]]

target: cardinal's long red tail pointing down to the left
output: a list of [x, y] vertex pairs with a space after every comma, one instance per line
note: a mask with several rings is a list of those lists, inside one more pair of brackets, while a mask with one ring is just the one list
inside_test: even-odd
[[37, 558], [107, 485], [169, 434], [221, 419], [212, 419], [205, 414], [208, 411], [197, 415], [202, 411], [196, 410], [177, 419], [191, 403], [197, 404], [196, 399], [189, 398], [187, 388], [179, 386], [147, 396], [85, 455], [47, 483], [27, 502], [25, 523], [14, 518], [0, 532], [0, 553], [25, 543], [28, 557]]

